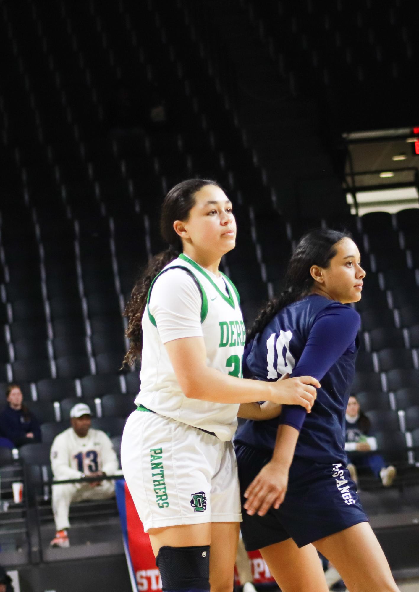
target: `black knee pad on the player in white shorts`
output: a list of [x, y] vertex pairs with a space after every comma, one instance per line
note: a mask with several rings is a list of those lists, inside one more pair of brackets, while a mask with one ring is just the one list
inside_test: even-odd
[[160, 547], [156, 564], [163, 590], [209, 590], [209, 545]]

